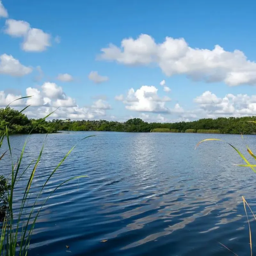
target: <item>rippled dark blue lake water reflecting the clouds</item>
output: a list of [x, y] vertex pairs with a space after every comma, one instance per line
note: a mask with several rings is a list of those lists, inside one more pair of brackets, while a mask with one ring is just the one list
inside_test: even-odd
[[[231, 255], [219, 242], [238, 255], [250, 255], [241, 196], [256, 211], [256, 174], [233, 165], [243, 162], [225, 143], [210, 141], [194, 148], [202, 139], [220, 138], [242, 152], [246, 143], [256, 151], [256, 136], [242, 140], [239, 135], [221, 134], [50, 134], [36, 170], [32, 200], [68, 150], [88, 135], [97, 136], [79, 142], [43, 197], [70, 177], [90, 177], [73, 180], [51, 196], [36, 224], [28, 255]], [[26, 138], [11, 137], [14, 159]], [[44, 140], [45, 135], [29, 136], [23, 168], [38, 156]], [[9, 160], [10, 156], [1, 160], [4, 173]], [[20, 180], [16, 205], [24, 186]], [[38, 207], [41, 203], [42, 198]], [[252, 214], [249, 218], [255, 241], [256, 221]]]

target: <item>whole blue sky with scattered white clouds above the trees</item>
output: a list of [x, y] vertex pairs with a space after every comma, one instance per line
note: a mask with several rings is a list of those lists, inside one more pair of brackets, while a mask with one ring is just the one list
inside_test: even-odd
[[176, 122], [256, 115], [256, 2], [0, 0], [0, 107]]

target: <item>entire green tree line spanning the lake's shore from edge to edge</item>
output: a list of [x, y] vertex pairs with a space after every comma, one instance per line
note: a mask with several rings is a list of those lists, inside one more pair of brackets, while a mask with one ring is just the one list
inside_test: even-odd
[[109, 132], [205, 132], [228, 134], [256, 134], [256, 116], [204, 118], [191, 122], [148, 123], [140, 118], [126, 122], [107, 120], [28, 119], [18, 110], [0, 109], [0, 132], [6, 126], [10, 133], [52, 133], [57, 131], [109, 131]]

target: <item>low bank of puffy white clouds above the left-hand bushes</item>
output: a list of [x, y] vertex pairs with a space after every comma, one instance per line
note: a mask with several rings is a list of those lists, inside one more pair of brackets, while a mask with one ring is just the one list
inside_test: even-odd
[[[28, 87], [26, 95], [32, 96], [27, 99], [17, 100], [11, 104], [12, 107], [21, 109], [30, 105], [25, 114], [28, 117], [42, 118], [54, 113], [50, 118], [60, 119], [102, 119], [110, 105], [106, 100], [96, 100], [92, 106], [80, 108], [76, 101], [66, 95], [63, 89], [55, 83], [46, 82], [38, 88]], [[0, 92], [0, 106], [5, 107], [11, 101], [20, 98], [21, 95]]]

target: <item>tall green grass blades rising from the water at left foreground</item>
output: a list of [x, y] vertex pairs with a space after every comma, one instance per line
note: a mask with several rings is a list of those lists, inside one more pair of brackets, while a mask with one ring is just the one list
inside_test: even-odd
[[[28, 97], [22, 97], [20, 99], [23, 99], [23, 98], [28, 98]], [[19, 100], [19, 99], [17, 99], [17, 100]], [[24, 111], [26, 108], [22, 109], [20, 112]], [[52, 113], [45, 116], [42, 120], [45, 120], [45, 118], [50, 116]], [[92, 136], [94, 136], [94, 135], [92, 135]], [[83, 138], [82, 140], [84, 140], [88, 137], [92, 137], [92, 136], [87, 136], [87, 137]], [[46, 135], [46, 137], [47, 137], [47, 135]], [[29, 136], [28, 136], [28, 138], [29, 138]], [[30, 162], [28, 164], [28, 166], [24, 167], [24, 166], [22, 166], [22, 160], [23, 160], [23, 156], [24, 156], [28, 138], [23, 145], [23, 148], [20, 153], [20, 157], [18, 158], [18, 160], [14, 161], [13, 156], [12, 156], [10, 140], [9, 140], [8, 127], [6, 127], [4, 134], [0, 135], [0, 149], [2, 148], [3, 142], [5, 140], [7, 141], [7, 144], [8, 144], [8, 150], [0, 156], [0, 160], [7, 153], [10, 154], [11, 159], [12, 159], [11, 174], [10, 174], [10, 177], [7, 178], [7, 181], [5, 184], [5, 186], [7, 188], [6, 190], [7, 190], [7, 198], [8, 198], [8, 211], [5, 214], [5, 217], [4, 217], [4, 220], [2, 223], [2, 232], [1, 232], [1, 240], [0, 240], [0, 255], [2, 255], [2, 256], [15, 256], [15, 255], [26, 256], [28, 253], [31, 236], [32, 236], [33, 230], [35, 228], [36, 220], [39, 216], [39, 213], [40, 213], [42, 207], [47, 203], [47, 200], [50, 198], [50, 196], [58, 188], [60, 188], [60, 186], [62, 186], [63, 184], [65, 184], [71, 180], [78, 179], [78, 178], [88, 177], [86, 175], [81, 175], [81, 176], [71, 177], [68, 180], [65, 180], [64, 182], [57, 185], [53, 189], [53, 191], [50, 193], [50, 195], [44, 199], [44, 201], [41, 204], [39, 209], [36, 208], [35, 206], [38, 202], [39, 197], [42, 195], [44, 188], [46, 188], [47, 184], [51, 180], [54, 173], [59, 169], [60, 165], [65, 161], [65, 159], [68, 157], [68, 155], [74, 150], [74, 148], [76, 147], [77, 144], [74, 145], [67, 152], [67, 154], [61, 159], [60, 163], [57, 164], [56, 167], [50, 172], [49, 176], [45, 180], [44, 185], [41, 187], [41, 189], [38, 192], [35, 199], [31, 199], [30, 191], [34, 184], [33, 180], [34, 180], [36, 170], [37, 170], [37, 168], [40, 164], [41, 158], [42, 158], [42, 154], [44, 151], [44, 144], [37, 156], [37, 159]], [[24, 177], [25, 172], [30, 172], [30, 176], [29, 176], [28, 180], [26, 181], [26, 188], [24, 190], [23, 198], [20, 202], [20, 207], [18, 209], [18, 212], [14, 212], [13, 202], [14, 202], [15, 188], [17, 187], [17, 183], [20, 182], [20, 179], [22, 177]], [[8, 186], [9, 186], [9, 188], [8, 188]], [[32, 207], [29, 210], [27, 210], [28, 201], [30, 202], [29, 204], [31, 204], [31, 201], [32, 201]]]

